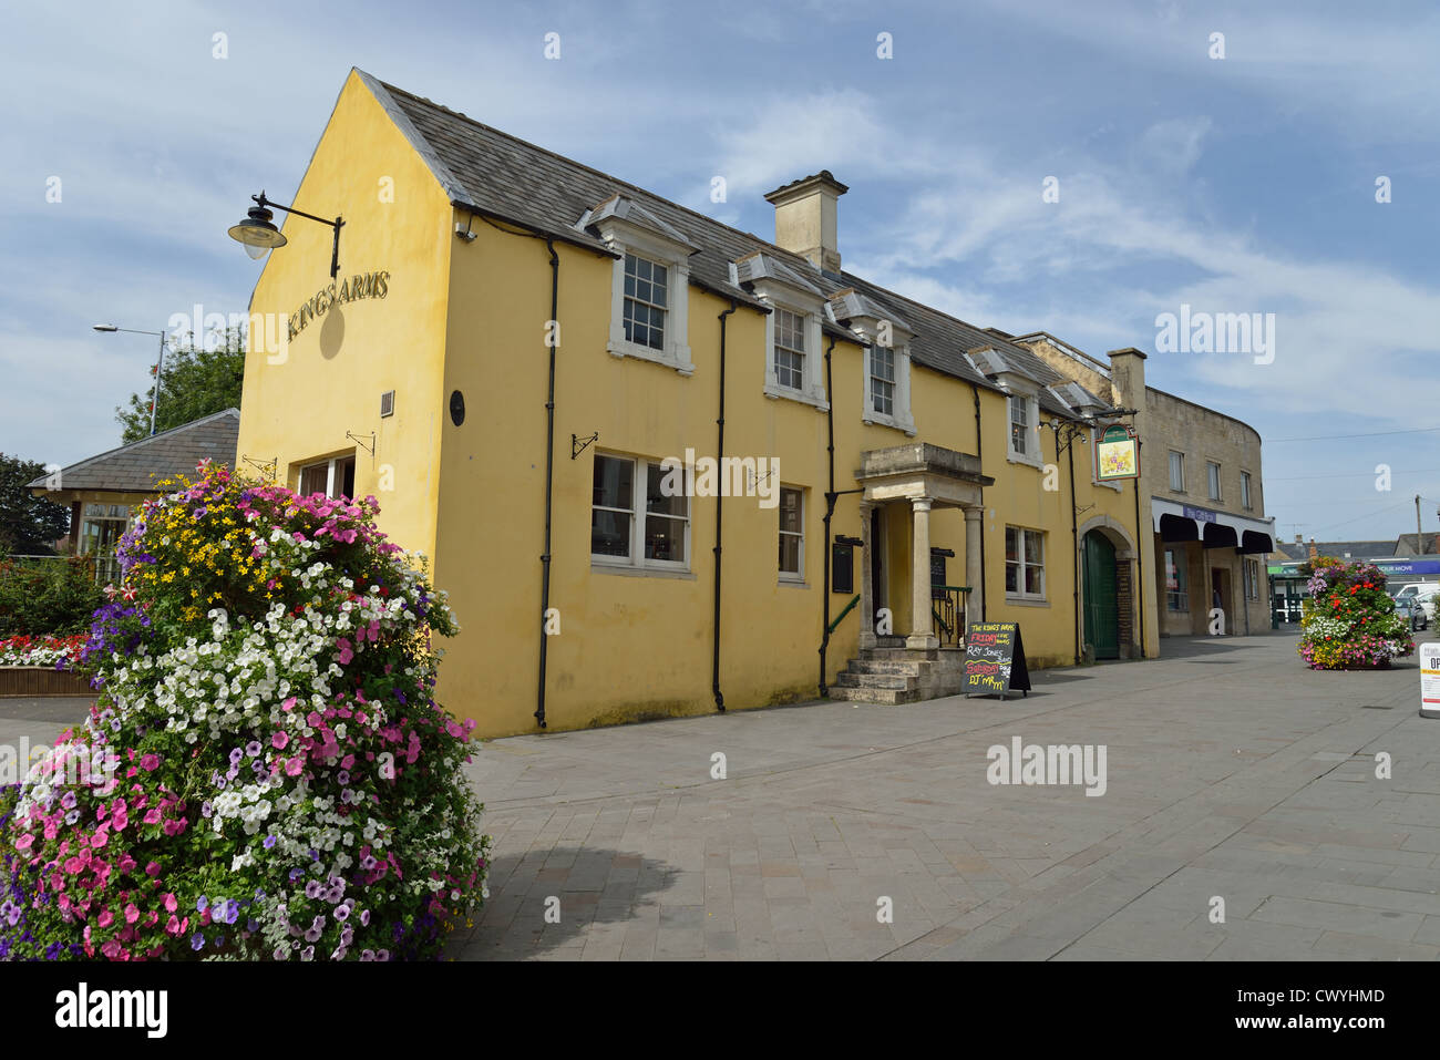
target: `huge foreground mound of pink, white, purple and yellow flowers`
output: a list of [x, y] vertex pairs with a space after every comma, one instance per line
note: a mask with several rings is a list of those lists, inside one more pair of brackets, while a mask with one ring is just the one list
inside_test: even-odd
[[490, 858], [474, 723], [432, 697], [445, 593], [374, 498], [164, 488], [68, 650], [98, 701], [0, 791], [0, 959], [438, 955]]

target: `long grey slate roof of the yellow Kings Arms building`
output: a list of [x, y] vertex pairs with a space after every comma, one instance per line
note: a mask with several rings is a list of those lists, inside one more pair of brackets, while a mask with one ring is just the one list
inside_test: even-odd
[[[804, 277], [827, 298], [852, 288], [886, 313], [907, 321], [907, 327], [914, 333], [910, 340], [910, 359], [914, 364], [991, 390], [1001, 390], [1002, 387], [979, 373], [965, 357], [971, 350], [995, 349], [1005, 354], [1017, 372], [1043, 386], [1064, 382], [1060, 373], [1034, 353], [996, 334], [887, 291], [851, 272], [838, 275], [821, 272], [808, 259], [749, 232], [739, 232], [642, 187], [517, 140], [464, 114], [377, 81], [364, 71], [356, 73], [416, 153], [425, 158], [454, 206], [497, 220], [511, 220], [552, 235], [557, 241], [611, 255], [599, 238], [575, 226], [588, 210], [619, 194], [700, 248], [690, 255], [690, 281], [700, 288], [768, 310], [765, 302], [743, 287], [743, 279], [737, 287], [730, 271], [733, 262], [759, 251], [779, 266]], [[802, 177], [805, 179], [808, 177]], [[838, 331], [831, 321], [827, 321], [825, 330], [829, 334], [848, 334]], [[1044, 389], [1040, 390], [1040, 405], [1054, 415], [1074, 415]]]

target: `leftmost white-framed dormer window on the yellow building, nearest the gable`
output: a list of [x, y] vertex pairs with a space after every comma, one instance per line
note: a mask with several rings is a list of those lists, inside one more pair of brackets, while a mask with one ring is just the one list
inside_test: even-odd
[[691, 374], [690, 255], [696, 245], [621, 194], [586, 210], [576, 228], [595, 232], [616, 253], [605, 349], [616, 357], [638, 357]]

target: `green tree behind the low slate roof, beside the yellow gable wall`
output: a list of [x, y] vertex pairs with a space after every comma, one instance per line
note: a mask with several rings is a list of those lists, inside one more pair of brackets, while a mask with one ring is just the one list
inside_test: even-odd
[[[166, 343], [166, 363], [160, 372], [160, 408], [156, 412], [156, 432], [181, 426], [202, 416], [240, 406], [240, 383], [245, 380], [245, 336], [229, 328], [215, 336], [213, 350], [187, 338], [181, 344]], [[156, 366], [150, 366], [154, 374]], [[125, 428], [121, 441], [138, 442], [150, 436], [151, 385], [144, 395], [130, 395], [130, 408], [115, 409], [115, 419]]]

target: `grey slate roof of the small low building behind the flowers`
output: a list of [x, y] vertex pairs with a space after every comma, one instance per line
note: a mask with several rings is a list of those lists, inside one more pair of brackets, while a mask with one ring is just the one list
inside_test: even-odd
[[[193, 474], [206, 457], [233, 467], [239, 436], [240, 410], [216, 412], [60, 468], [60, 488], [156, 493], [157, 481]], [[27, 482], [27, 488], [45, 488], [46, 478]]]

